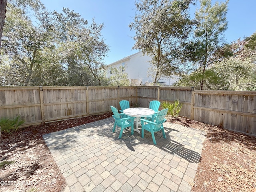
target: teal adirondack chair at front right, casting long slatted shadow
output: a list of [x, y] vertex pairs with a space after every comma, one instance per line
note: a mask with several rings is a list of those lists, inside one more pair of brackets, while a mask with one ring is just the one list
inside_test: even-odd
[[167, 112], [168, 112], [168, 109], [163, 109], [159, 111], [156, 114], [155, 122], [141, 118], [140, 119], [141, 126], [142, 126], [141, 137], [144, 138], [144, 130], [151, 132], [153, 142], [156, 145], [156, 138], [155, 138], [154, 132], [158, 132], [162, 130], [163, 136], [166, 139], [163, 123], [166, 121], [165, 116]]

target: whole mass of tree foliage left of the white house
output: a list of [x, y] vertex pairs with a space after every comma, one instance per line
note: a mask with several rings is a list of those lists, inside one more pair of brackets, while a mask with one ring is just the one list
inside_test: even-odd
[[[106, 85], [101, 30], [63, 8], [50, 13], [40, 0], [12, 0], [3, 32], [1, 85]], [[4, 69], [4, 70], [2, 70]]]

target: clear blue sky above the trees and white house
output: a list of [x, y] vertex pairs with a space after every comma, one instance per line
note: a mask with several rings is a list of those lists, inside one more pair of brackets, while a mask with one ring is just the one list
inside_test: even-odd
[[[62, 12], [62, 8], [70, 8], [79, 13], [90, 23], [104, 23], [102, 36], [110, 51], [104, 59], [105, 64], [138, 52], [132, 50], [135, 35], [128, 24], [135, 16], [134, 0], [41, 0], [49, 11]], [[215, 2], [215, 0], [213, 0]], [[219, 0], [225, 2], [225, 0]], [[200, 4], [197, 5], [198, 8]], [[256, 0], [230, 0], [228, 3], [228, 29], [225, 32], [228, 43], [251, 36], [256, 32]], [[193, 10], [191, 10], [193, 12]]]

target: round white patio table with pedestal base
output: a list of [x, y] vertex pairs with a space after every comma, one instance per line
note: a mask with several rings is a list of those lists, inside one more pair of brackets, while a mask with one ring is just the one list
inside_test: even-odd
[[155, 111], [149, 108], [143, 108], [143, 107], [136, 107], [136, 108], [128, 108], [123, 110], [123, 113], [131, 116], [136, 117], [136, 130], [139, 134], [139, 118], [141, 117], [149, 117], [155, 114]]

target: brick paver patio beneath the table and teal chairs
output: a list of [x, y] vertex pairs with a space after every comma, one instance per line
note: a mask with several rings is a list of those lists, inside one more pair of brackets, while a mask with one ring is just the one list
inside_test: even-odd
[[44, 135], [66, 178], [65, 192], [190, 192], [200, 161], [204, 132], [164, 123], [157, 145], [120, 128], [113, 118]]

